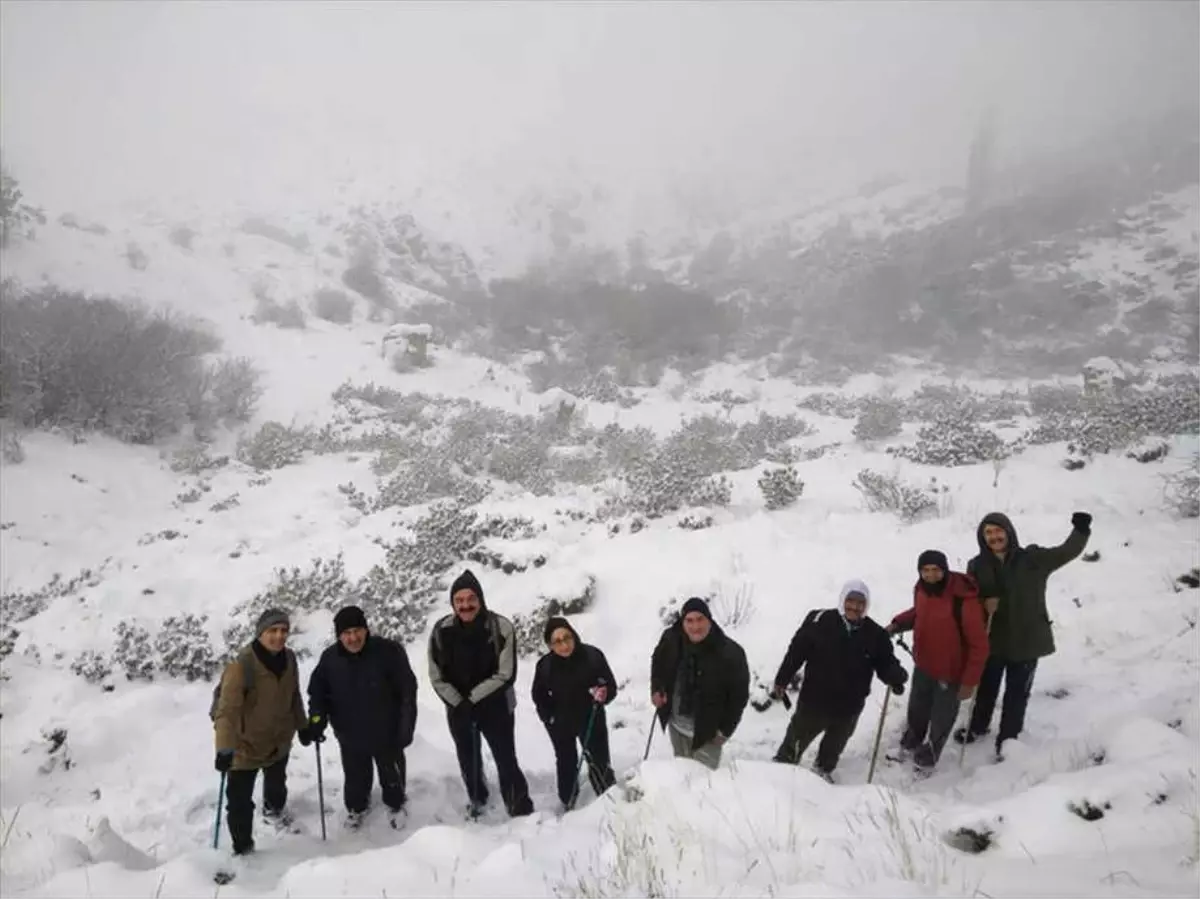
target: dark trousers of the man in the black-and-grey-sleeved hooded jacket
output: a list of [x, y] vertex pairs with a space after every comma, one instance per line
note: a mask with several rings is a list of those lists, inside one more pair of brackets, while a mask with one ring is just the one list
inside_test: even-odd
[[510, 815], [528, 815], [533, 811], [529, 783], [517, 763], [515, 743], [516, 718], [509, 712], [503, 696], [494, 697], [485, 706], [476, 706], [468, 718], [446, 709], [450, 736], [454, 737], [458, 755], [458, 772], [467, 787], [470, 802], [482, 805], [487, 802], [487, 778], [484, 775], [484, 751], [480, 737], [487, 741], [500, 779], [500, 796]]

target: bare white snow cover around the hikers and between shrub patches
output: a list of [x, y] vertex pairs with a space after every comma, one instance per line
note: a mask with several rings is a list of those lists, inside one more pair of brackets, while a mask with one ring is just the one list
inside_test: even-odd
[[[259, 420], [319, 422], [332, 412], [330, 394], [347, 378], [538, 409], [539, 397], [518, 372], [444, 347], [432, 349], [433, 367], [396, 374], [379, 353], [382, 323], [347, 328], [313, 318], [306, 330], [289, 331], [250, 322], [257, 276], [271, 272], [281, 300], [306, 298], [336, 281], [340, 262], [296, 264], [292, 250], [233, 232], [204, 232], [196, 248], [185, 251], [166, 233], [163, 224], [138, 224], [101, 236], [52, 224], [38, 241], [7, 256], [6, 274], [28, 284], [48, 278], [67, 288], [139, 295], [204, 316], [228, 352], [263, 366]], [[312, 242], [320, 246], [323, 239]], [[127, 240], [148, 252], [144, 271], [120, 256]], [[901, 383], [911, 385], [893, 380]], [[694, 397], [722, 388], [752, 398], [733, 408], [734, 419], [796, 410], [802, 394], [752, 367], [714, 366], [690, 392], [672, 391], [672, 384], [668, 377], [659, 390], [642, 391], [632, 409], [593, 402], [582, 409], [594, 425], [665, 431], [700, 408]], [[533, 659], [526, 658], [517, 749], [538, 810], [516, 822], [492, 811], [463, 823], [454, 749], [418, 641], [409, 646], [422, 683], [408, 754], [407, 825], [395, 831], [372, 820], [361, 832], [343, 829], [331, 741], [323, 759], [329, 837], [322, 840], [317, 759], [296, 745], [289, 804], [302, 832], [275, 835], [258, 825], [260, 852], [220, 888], [211, 877], [223, 852], [208, 847], [218, 784], [206, 714], [211, 685], [120, 678], [104, 691], [70, 665], [82, 651], [110, 648], [119, 622], [208, 615], [217, 640], [233, 606], [262, 589], [274, 569], [342, 552], [348, 574], [359, 576], [379, 561], [376, 539], [392, 535], [398, 520], [395, 513], [362, 515], [337, 490], [347, 481], [371, 483], [362, 457], [310, 457], [269, 479], [235, 463], [212, 473], [204, 502], [188, 505], [174, 501], [194, 479], [173, 473], [156, 449], [101, 437], [76, 444], [47, 433], [25, 436], [26, 460], [0, 469], [5, 593], [35, 589], [55, 574], [70, 579], [91, 569], [94, 576], [92, 586], [23, 622], [5, 663], [0, 891], [10, 897], [184, 897], [215, 889], [229, 897], [1195, 895], [1200, 593], [1175, 579], [1196, 565], [1198, 539], [1194, 520], [1180, 521], [1164, 507], [1163, 475], [1187, 463], [1196, 439], [1174, 439], [1170, 455], [1151, 465], [1112, 455], [1068, 473], [1058, 465], [1062, 446], [1051, 445], [1000, 468], [935, 471], [853, 444], [848, 421], [804, 414], [817, 433], [800, 445], [845, 443], [799, 463], [804, 496], [780, 511], [763, 508], [757, 471], [731, 475], [732, 504], [714, 513], [713, 527], [697, 532], [662, 520], [636, 534], [610, 535], [602, 526], [556, 515], [583, 502], [570, 496], [506, 493], [484, 503], [547, 526], [536, 538], [545, 567], [512, 575], [480, 571], [491, 607], [528, 612], [539, 595], [595, 577], [595, 604], [574, 623], [606, 652], [623, 687], [610, 717], [618, 789], [599, 799], [584, 789], [578, 810], [562, 819], [553, 814], [553, 756], [528, 699]], [[224, 439], [228, 450], [233, 437]], [[948, 489], [941, 514], [904, 526], [865, 511], [851, 486], [863, 468], [912, 480], [936, 474]], [[210, 509], [233, 495], [238, 504]], [[901, 767], [883, 763], [866, 785], [883, 700], [878, 688], [835, 785], [806, 766], [769, 761], [786, 726], [779, 706], [748, 708], [727, 762], [715, 773], [672, 761], [661, 733], [649, 761], [642, 761], [652, 715], [649, 654], [661, 605], [715, 594], [718, 618], [767, 682], [805, 612], [834, 605], [845, 580], [871, 586], [871, 615], [886, 622], [911, 598], [918, 553], [940, 547], [961, 568], [976, 552], [977, 522], [992, 510], [1012, 515], [1025, 543], [1043, 545], [1066, 538], [1073, 511], [1090, 511], [1096, 521], [1088, 549], [1099, 552], [1098, 561], [1075, 562], [1050, 582], [1058, 652], [1039, 667], [1027, 730], [1003, 762], [978, 745], [960, 767], [952, 745], [929, 780], [913, 783]], [[164, 532], [176, 533], [151, 539]], [[332, 639], [328, 613], [300, 624], [302, 647], [318, 649]], [[301, 663], [305, 679], [312, 664], [312, 658]], [[901, 720], [902, 702], [893, 702], [883, 720], [886, 747], [899, 739]], [[979, 846], [964, 828], [985, 835], [988, 846], [970, 851]]]

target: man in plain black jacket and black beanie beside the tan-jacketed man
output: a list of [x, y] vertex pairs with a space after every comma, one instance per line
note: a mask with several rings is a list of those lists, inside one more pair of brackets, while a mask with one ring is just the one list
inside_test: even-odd
[[343, 799], [356, 827], [367, 810], [379, 771], [383, 801], [395, 815], [404, 808], [404, 749], [416, 727], [416, 677], [404, 647], [374, 636], [358, 606], [334, 616], [337, 642], [325, 649], [308, 678], [308, 714], [317, 742], [334, 726], [346, 777]]

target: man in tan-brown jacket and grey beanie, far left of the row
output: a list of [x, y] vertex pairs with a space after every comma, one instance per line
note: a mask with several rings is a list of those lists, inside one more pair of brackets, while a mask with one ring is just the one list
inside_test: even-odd
[[221, 676], [212, 713], [216, 769], [226, 775], [229, 840], [234, 855], [254, 851], [254, 781], [263, 772], [263, 811], [288, 821], [288, 754], [292, 738], [308, 745], [311, 732], [300, 699], [295, 653], [287, 648], [288, 613], [269, 609], [258, 618], [254, 642]]

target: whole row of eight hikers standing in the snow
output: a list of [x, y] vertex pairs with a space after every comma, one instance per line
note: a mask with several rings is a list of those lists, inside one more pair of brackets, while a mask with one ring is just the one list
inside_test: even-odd
[[[872, 678], [896, 695], [905, 693], [908, 673], [896, 659], [893, 637], [910, 630], [913, 676], [900, 757], [928, 774], [952, 735], [959, 743], [989, 735], [1006, 682], [995, 737], [998, 757], [1004, 742], [1024, 729], [1038, 660], [1055, 652], [1046, 580], [1084, 551], [1091, 520], [1075, 513], [1067, 540], [1040, 547], [1021, 546], [1006, 515], [986, 515], [977, 531], [979, 552], [966, 573], [952, 571], [938, 550], [920, 553], [913, 604], [886, 627], [868, 616], [866, 585], [848, 581], [836, 609], [805, 617], [775, 675], [773, 696], [786, 701], [804, 669], [796, 711], [774, 760], [797, 765], [821, 737], [814, 769], [832, 780]], [[445, 705], [468, 811], [476, 816], [488, 801], [481, 757], [486, 739], [508, 814], [529, 815], [533, 801], [515, 744], [512, 622], [487, 607], [484, 588], [469, 570], [451, 585], [450, 604], [451, 613], [430, 635], [428, 672]], [[216, 768], [224, 783], [235, 855], [254, 850], [258, 772], [265, 819], [286, 825], [293, 737], [301, 745], [319, 747], [330, 726], [341, 749], [348, 825], [358, 826], [367, 811], [376, 772], [388, 809], [395, 815], [404, 808], [404, 750], [416, 726], [418, 689], [408, 655], [400, 643], [371, 634], [358, 606], [341, 609], [334, 629], [337, 640], [308, 679], [307, 714], [296, 659], [286, 646], [289, 619], [283, 610], [259, 617], [256, 639], [226, 667], [216, 688]], [[617, 682], [605, 654], [584, 643], [565, 618], [550, 618], [544, 639], [547, 652], [536, 664], [532, 699], [554, 748], [558, 798], [568, 810], [577, 798], [583, 763], [598, 796], [616, 783], [605, 707], [617, 697]], [[749, 700], [745, 652], [713, 621], [703, 599], [689, 599], [650, 659], [650, 701], [674, 756], [715, 769]], [[970, 719], [955, 732], [960, 705], [967, 701]]]

